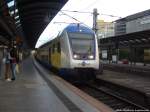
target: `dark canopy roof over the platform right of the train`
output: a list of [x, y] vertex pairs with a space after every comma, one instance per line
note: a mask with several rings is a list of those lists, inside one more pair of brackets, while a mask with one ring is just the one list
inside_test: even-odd
[[100, 39], [101, 47], [150, 47], [150, 30]]

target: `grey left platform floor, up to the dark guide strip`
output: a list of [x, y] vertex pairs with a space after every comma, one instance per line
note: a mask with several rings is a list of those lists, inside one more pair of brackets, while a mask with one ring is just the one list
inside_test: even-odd
[[41, 78], [29, 58], [23, 62], [22, 72], [17, 74], [15, 81], [6, 82], [3, 77], [0, 80], [0, 112], [69, 112], [69, 110]]

